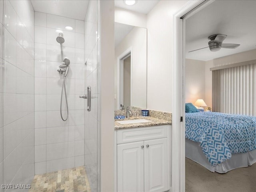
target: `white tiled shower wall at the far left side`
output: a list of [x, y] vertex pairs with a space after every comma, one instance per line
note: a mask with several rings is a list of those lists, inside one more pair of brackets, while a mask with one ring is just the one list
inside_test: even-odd
[[34, 176], [34, 9], [1, 0], [0, 13], [0, 183], [26, 184]]

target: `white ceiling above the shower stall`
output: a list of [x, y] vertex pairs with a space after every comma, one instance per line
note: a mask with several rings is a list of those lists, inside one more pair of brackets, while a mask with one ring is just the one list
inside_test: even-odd
[[89, 0], [31, 0], [35, 11], [84, 20]]

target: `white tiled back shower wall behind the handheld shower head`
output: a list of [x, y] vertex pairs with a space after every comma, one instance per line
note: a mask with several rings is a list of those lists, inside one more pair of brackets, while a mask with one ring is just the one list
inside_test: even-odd
[[[86, 10], [85, 10], [86, 11]], [[66, 30], [71, 26], [73, 30]], [[59, 32], [64, 35], [63, 58], [70, 60], [66, 76], [69, 117], [60, 117], [63, 75]], [[64, 93], [64, 92], [63, 92]], [[84, 21], [35, 12], [35, 173], [84, 165]], [[66, 117], [63, 94], [62, 109]]]

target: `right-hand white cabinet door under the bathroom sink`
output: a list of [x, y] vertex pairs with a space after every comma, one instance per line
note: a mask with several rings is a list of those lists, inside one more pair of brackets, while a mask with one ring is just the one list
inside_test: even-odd
[[144, 141], [146, 192], [163, 192], [167, 187], [167, 138]]

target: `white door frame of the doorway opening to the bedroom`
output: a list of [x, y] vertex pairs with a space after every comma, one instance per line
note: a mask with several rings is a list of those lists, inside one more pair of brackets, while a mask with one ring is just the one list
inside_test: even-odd
[[172, 192], [185, 192], [185, 22], [212, 2], [188, 1], [173, 15]]

